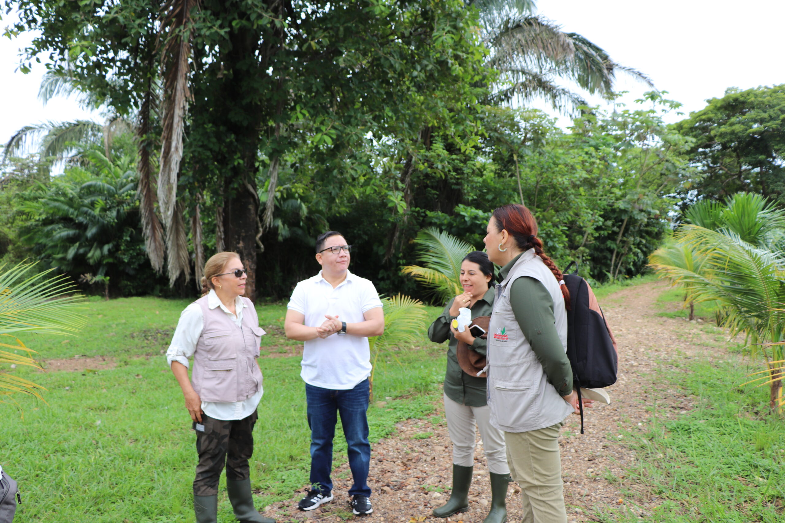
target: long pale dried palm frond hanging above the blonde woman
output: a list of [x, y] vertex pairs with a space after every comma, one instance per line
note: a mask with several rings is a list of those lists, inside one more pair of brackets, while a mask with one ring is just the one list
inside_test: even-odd
[[[159, 35], [159, 38], [164, 38], [161, 60], [164, 100], [158, 200], [163, 222], [167, 227], [173, 220], [177, 200], [177, 177], [183, 157], [183, 131], [188, 113], [188, 99], [191, 97], [188, 89], [188, 59], [191, 56], [191, 11], [195, 5], [193, 0], [166, 2], [161, 24], [162, 35]], [[164, 31], [166, 35], [163, 35]]]

